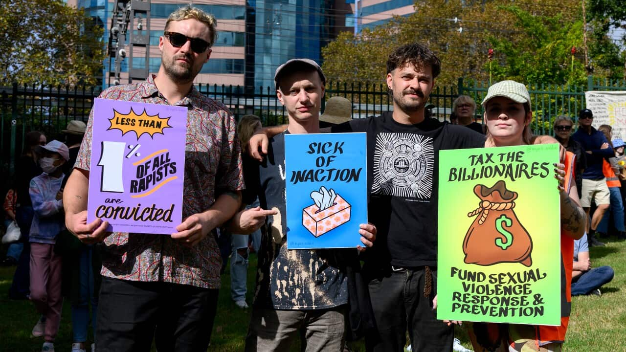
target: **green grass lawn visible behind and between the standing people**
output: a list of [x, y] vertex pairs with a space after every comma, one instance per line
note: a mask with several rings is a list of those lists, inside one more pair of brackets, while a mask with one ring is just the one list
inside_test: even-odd
[[[615, 278], [602, 289], [602, 297], [583, 296], [572, 299], [572, 316], [567, 332], [565, 351], [607, 352], [626, 351], [622, 341], [626, 331], [626, 241], [607, 242], [607, 247], [591, 249], [594, 267], [609, 265], [615, 269]], [[248, 273], [248, 301], [253, 292], [257, 257], [250, 256]], [[8, 290], [15, 267], [0, 267], [0, 352], [40, 351], [41, 338], [31, 338], [31, 329], [38, 319], [34, 306], [28, 301], [11, 301]], [[222, 277], [222, 289], [217, 317], [209, 351], [243, 351], [250, 309], [237, 308], [230, 300], [230, 273]], [[461, 330], [458, 333], [466, 347], [468, 339]], [[56, 351], [69, 352], [71, 346], [70, 306], [63, 305], [61, 329], [54, 347]], [[364, 351], [362, 343], [353, 346]], [[299, 351], [294, 346], [292, 351]]]

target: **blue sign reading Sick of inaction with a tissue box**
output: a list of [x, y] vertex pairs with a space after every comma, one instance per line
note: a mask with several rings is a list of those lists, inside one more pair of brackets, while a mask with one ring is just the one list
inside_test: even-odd
[[362, 245], [366, 157], [366, 133], [285, 135], [288, 249]]

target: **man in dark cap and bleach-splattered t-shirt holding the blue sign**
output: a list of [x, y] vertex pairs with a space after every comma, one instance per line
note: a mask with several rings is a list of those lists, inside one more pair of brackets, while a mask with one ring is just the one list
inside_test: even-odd
[[[346, 338], [349, 292], [347, 264], [340, 251], [346, 250], [287, 249], [285, 135], [319, 133], [326, 77], [315, 61], [294, 59], [277, 68], [274, 80], [277, 98], [289, 115], [289, 127], [269, 141], [263, 162], [244, 165], [244, 203], [258, 196], [261, 209], [239, 212], [231, 223], [233, 232], [245, 234], [271, 215], [259, 250], [257, 289], [245, 350], [287, 350], [304, 329], [307, 351], [340, 351]], [[361, 224], [359, 232], [361, 241], [371, 246], [376, 228]], [[356, 251], [352, 253], [356, 259]]]

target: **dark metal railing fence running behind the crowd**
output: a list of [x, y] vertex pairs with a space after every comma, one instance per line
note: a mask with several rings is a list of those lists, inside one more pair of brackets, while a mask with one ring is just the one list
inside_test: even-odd
[[[245, 88], [243, 86], [198, 85], [200, 93], [222, 101], [235, 118], [253, 113], [264, 125], [287, 122], [287, 114], [277, 100], [273, 87]], [[452, 103], [459, 94], [469, 95], [478, 104], [476, 118], [483, 114], [480, 102], [488, 85], [459, 79], [456, 86], [435, 86], [430, 102], [435, 118], [449, 120]], [[558, 115], [577, 120], [577, 112], [585, 106], [585, 91], [626, 90], [623, 80], [588, 78], [587, 86], [528, 85], [533, 110], [532, 127], [535, 133], [552, 135], [552, 122]], [[86, 121], [93, 98], [100, 90], [92, 87], [18, 86], [0, 87], [0, 182], [3, 184], [12, 172], [13, 161], [21, 153], [24, 134], [31, 130], [46, 133], [48, 140], [63, 138], [59, 133], [69, 120]], [[326, 99], [344, 96], [352, 101], [352, 117], [364, 118], [393, 110], [393, 100], [384, 84], [338, 83], [326, 86]], [[323, 111], [323, 110], [322, 110]]]

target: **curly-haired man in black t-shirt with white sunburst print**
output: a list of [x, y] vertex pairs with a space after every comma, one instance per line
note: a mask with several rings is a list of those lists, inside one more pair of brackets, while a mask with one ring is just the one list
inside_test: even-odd
[[483, 147], [485, 137], [424, 116], [439, 70], [439, 59], [425, 46], [401, 46], [387, 60], [393, 112], [331, 128], [367, 132], [368, 219], [376, 224], [377, 241], [365, 254], [364, 271], [381, 337], [378, 343], [366, 339], [368, 350], [403, 351], [408, 329], [413, 351], [452, 351], [454, 329], [433, 311], [439, 150]]

